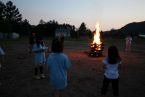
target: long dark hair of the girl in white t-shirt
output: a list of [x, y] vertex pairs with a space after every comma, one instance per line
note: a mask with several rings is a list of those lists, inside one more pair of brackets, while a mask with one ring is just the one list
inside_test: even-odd
[[108, 63], [115, 64], [121, 61], [118, 49], [116, 46], [112, 45], [108, 48]]

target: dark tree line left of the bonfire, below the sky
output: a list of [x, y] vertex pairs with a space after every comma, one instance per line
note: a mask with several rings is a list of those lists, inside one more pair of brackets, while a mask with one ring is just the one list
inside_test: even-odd
[[0, 1], [0, 32], [12, 33], [16, 32], [20, 35], [29, 35], [31, 32], [53, 37], [57, 28], [69, 29], [71, 37], [79, 38], [81, 36], [90, 36], [91, 30], [86, 27], [84, 22], [79, 28], [70, 24], [59, 24], [55, 20], [45, 22], [40, 20], [38, 25], [31, 25], [27, 19], [22, 18], [22, 14], [12, 1], [3, 3]]

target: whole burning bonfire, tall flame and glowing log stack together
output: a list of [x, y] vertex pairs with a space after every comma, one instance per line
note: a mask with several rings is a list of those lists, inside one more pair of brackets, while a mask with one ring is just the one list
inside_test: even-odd
[[90, 45], [90, 56], [102, 56], [103, 43], [100, 37], [99, 23], [96, 24], [96, 31], [94, 32], [93, 42]]

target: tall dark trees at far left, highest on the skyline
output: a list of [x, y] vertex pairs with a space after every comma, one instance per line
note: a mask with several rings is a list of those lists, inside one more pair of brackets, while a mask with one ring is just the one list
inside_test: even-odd
[[6, 4], [0, 1], [0, 28], [1, 32], [27, 34], [31, 31], [32, 26], [27, 19], [22, 20], [22, 15], [12, 1], [8, 1]]

